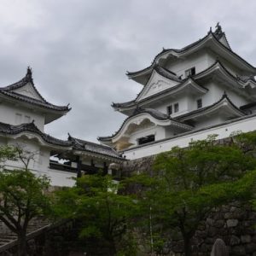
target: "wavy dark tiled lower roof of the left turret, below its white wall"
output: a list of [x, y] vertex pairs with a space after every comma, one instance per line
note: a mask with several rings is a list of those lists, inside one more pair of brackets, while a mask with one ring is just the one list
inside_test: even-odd
[[0, 122], [0, 134], [3, 135], [17, 135], [21, 132], [32, 132], [37, 134], [39, 137], [41, 137], [45, 143], [61, 146], [61, 147], [71, 147], [71, 143], [68, 141], [63, 141], [60, 139], [57, 139], [55, 137], [51, 137], [48, 134], [45, 134], [44, 132], [40, 131], [38, 127], [32, 122], [32, 123], [26, 123], [21, 125], [9, 125]]

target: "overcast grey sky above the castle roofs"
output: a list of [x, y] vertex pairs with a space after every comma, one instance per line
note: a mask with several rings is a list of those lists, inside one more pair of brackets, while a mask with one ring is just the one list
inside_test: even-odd
[[0, 86], [31, 66], [38, 90], [72, 110], [46, 125], [52, 136], [96, 142], [125, 116], [111, 102], [134, 99], [126, 71], [148, 67], [164, 48], [182, 48], [219, 21], [231, 48], [256, 66], [253, 0], [1, 0]]

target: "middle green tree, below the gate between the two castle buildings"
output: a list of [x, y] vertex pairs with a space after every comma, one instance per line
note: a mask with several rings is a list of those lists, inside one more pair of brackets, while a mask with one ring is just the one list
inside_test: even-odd
[[56, 193], [55, 214], [79, 222], [79, 237], [89, 255], [96, 255], [97, 248], [106, 250], [105, 255], [120, 254], [120, 244], [126, 249], [120, 255], [135, 255], [128, 231], [137, 206], [120, 189], [111, 176], [94, 174], [80, 177], [77, 186]]

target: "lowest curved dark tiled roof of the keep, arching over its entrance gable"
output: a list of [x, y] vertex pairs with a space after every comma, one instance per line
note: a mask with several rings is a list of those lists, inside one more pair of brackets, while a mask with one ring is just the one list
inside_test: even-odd
[[[149, 113], [149, 114], [150, 114], [151, 116], [153, 116], [155, 119], [159, 119], [159, 120], [168, 120], [168, 119], [169, 119], [169, 120], [172, 120], [172, 121], [174, 121], [174, 122], [176, 122], [176, 123], [180, 123], [180, 124], [183, 124], [183, 125], [187, 125], [187, 124], [185, 124], [185, 123], [183, 123], [183, 122], [181, 122], [181, 121], [179, 121], [179, 120], [177, 120], [177, 119], [172, 119], [172, 118], [171, 118], [170, 116], [168, 116], [166, 113], [161, 113], [160, 111], [155, 110], [155, 109], [153, 109], [153, 108], [136, 108], [136, 109], [134, 110], [134, 113], [123, 121], [123, 123], [122, 123], [122, 125], [120, 126], [120, 128], [119, 128], [118, 131], [115, 131], [112, 136], [98, 137], [98, 140], [99, 140], [99, 141], [106, 141], [106, 140], [108, 141], [108, 140], [111, 139], [112, 137], [116, 136], [116, 135], [119, 133], [119, 131], [121, 131], [121, 129], [122, 129], [123, 126], [125, 125], [125, 122], [126, 122], [128, 119], [131, 119], [132, 117], [134, 117], [134, 116], [136, 116], [137, 114], [140, 114], [140, 113]], [[187, 125], [187, 126], [191, 126], [191, 125]]]

